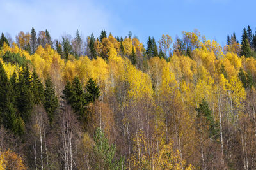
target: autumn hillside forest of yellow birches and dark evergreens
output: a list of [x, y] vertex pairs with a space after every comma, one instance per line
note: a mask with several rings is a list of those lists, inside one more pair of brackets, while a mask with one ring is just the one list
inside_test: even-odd
[[256, 169], [256, 32], [0, 39], [0, 169]]

